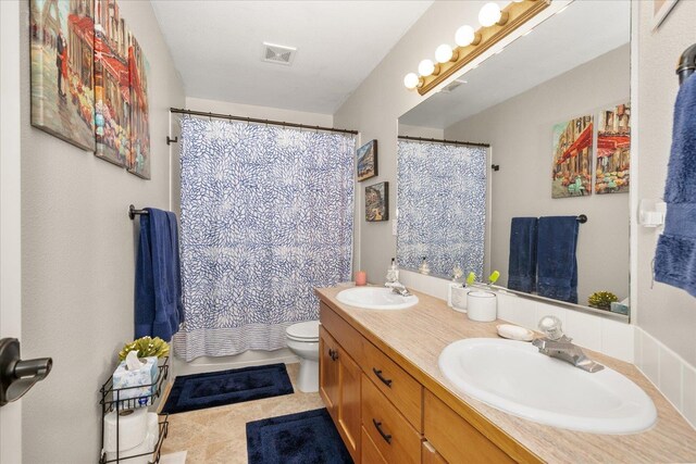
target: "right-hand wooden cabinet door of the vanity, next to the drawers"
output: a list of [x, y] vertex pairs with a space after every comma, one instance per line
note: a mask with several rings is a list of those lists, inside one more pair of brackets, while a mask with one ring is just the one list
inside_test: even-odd
[[338, 350], [338, 432], [356, 463], [360, 462], [360, 366]]

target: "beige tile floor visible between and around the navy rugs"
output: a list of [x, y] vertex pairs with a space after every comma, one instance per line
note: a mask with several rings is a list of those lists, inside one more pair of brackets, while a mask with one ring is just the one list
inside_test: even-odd
[[[186, 464], [247, 464], [248, 422], [323, 407], [319, 393], [297, 389], [299, 364], [288, 364], [295, 393], [171, 414], [162, 453], [187, 450]], [[165, 400], [163, 399], [163, 402]]]

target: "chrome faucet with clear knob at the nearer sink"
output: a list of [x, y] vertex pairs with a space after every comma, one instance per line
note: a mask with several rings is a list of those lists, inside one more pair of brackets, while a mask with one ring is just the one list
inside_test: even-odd
[[561, 321], [558, 317], [544, 316], [539, 321], [538, 327], [545, 337], [534, 339], [532, 344], [539, 349], [539, 353], [566, 361], [589, 373], [605, 368], [601, 364], [587, 358], [582, 348], [572, 343], [573, 339], [563, 334]]

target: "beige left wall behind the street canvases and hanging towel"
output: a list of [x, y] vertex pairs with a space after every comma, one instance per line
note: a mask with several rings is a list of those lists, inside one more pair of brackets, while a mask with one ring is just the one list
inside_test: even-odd
[[99, 387], [133, 339], [136, 227], [127, 206], [169, 209], [169, 108], [184, 89], [149, 2], [121, 11], [149, 63], [152, 180], [97, 159], [29, 124], [28, 1], [22, 38], [23, 358], [53, 371], [24, 400], [26, 463], [99, 457]]

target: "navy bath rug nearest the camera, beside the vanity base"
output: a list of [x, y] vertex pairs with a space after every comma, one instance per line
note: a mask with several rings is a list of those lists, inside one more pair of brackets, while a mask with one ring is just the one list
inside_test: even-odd
[[247, 423], [249, 464], [352, 464], [328, 411]]

